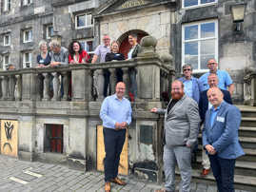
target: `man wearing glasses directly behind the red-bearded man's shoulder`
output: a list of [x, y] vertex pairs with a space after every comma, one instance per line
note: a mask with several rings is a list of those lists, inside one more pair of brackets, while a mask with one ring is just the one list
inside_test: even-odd
[[184, 84], [184, 91], [187, 96], [198, 103], [200, 95], [198, 79], [192, 76], [192, 67], [190, 65], [184, 65], [182, 68], [184, 77], [178, 80]]

